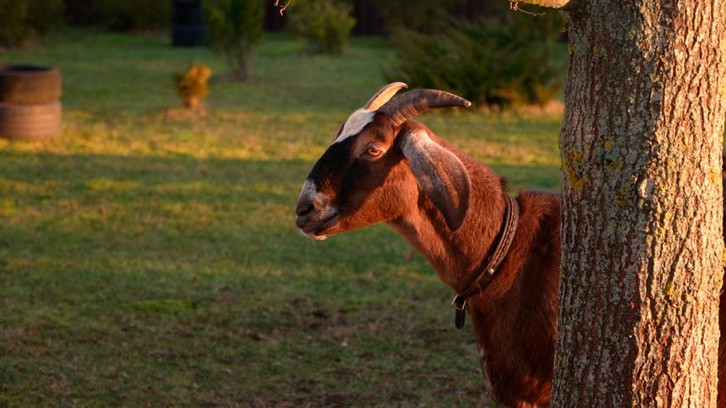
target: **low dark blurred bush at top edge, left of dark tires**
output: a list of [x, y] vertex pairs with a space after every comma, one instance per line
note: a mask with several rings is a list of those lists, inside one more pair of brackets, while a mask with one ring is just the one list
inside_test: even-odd
[[108, 30], [165, 30], [171, 15], [168, 0], [97, 0], [91, 6], [95, 23]]

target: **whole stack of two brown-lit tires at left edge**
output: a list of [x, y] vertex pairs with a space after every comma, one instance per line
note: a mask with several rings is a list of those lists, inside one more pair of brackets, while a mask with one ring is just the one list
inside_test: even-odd
[[60, 134], [60, 94], [56, 68], [0, 64], [0, 137], [42, 140]]

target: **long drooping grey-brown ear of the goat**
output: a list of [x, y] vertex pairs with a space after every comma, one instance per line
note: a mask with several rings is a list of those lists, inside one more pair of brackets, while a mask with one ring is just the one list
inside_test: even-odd
[[412, 131], [401, 137], [401, 150], [416, 181], [444, 215], [449, 229], [457, 231], [464, 223], [471, 190], [464, 163], [433, 142], [425, 131]]

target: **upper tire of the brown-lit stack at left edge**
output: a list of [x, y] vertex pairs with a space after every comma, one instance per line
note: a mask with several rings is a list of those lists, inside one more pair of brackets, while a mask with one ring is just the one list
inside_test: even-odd
[[60, 71], [36, 65], [0, 65], [0, 102], [44, 104], [60, 99]]

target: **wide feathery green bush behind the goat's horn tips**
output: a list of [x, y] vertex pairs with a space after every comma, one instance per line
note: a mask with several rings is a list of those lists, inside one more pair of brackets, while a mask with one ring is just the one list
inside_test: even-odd
[[566, 77], [564, 49], [558, 46], [561, 23], [555, 17], [455, 20], [436, 34], [396, 30], [391, 37], [399, 62], [384, 76], [451, 91], [478, 104], [544, 105]]

